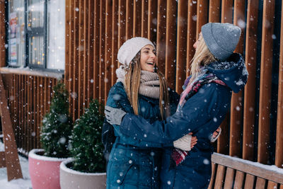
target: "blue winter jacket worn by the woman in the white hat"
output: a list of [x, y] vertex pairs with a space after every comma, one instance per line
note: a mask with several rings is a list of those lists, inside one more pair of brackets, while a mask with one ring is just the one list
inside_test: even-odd
[[[169, 92], [171, 109], [175, 111], [179, 96]], [[122, 82], [117, 82], [109, 91], [107, 105], [122, 108], [127, 113], [134, 113]], [[159, 100], [139, 95], [139, 115], [149, 122], [161, 120]], [[107, 168], [107, 188], [159, 188], [161, 155], [164, 146], [172, 146], [172, 142], [161, 144], [146, 142], [137, 137], [122, 134], [119, 126], [115, 129], [115, 144], [109, 156]]]

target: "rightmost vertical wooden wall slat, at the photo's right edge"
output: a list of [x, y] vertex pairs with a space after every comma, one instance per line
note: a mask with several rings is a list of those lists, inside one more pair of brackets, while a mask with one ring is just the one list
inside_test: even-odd
[[[283, 11], [283, 4], [282, 9]], [[275, 165], [283, 168], [283, 17], [281, 16]]]

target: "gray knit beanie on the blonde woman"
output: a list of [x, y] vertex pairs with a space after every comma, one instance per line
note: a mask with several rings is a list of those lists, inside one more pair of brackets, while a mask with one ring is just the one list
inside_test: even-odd
[[212, 55], [221, 61], [229, 58], [238, 45], [241, 28], [231, 23], [202, 25], [202, 37]]

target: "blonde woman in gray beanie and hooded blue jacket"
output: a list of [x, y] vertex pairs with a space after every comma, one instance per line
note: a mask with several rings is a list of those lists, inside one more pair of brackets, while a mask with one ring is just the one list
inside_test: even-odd
[[192, 151], [166, 150], [161, 168], [161, 188], [207, 188], [211, 177], [212, 144], [209, 137], [230, 108], [231, 93], [246, 84], [243, 57], [233, 53], [241, 29], [230, 23], [207, 23], [195, 43], [191, 75], [185, 80], [177, 111], [163, 121], [148, 122], [116, 108], [105, 107], [108, 122], [120, 132], [148, 142], [173, 142], [192, 132]]

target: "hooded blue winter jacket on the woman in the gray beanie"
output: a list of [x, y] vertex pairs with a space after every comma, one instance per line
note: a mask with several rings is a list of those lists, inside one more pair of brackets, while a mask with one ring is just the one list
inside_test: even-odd
[[[180, 112], [165, 121], [153, 124], [140, 116], [127, 114], [120, 125], [120, 132], [149, 142], [168, 143], [188, 132], [197, 136], [198, 142], [190, 154], [176, 168], [169, 168], [172, 148], [163, 154], [161, 188], [207, 188], [211, 177], [213, 152], [209, 136], [224, 120], [231, 103], [231, 91], [238, 92], [245, 86], [248, 71], [239, 54], [227, 62], [213, 62], [207, 69], [228, 86], [204, 84], [194, 96], [187, 99]], [[146, 137], [144, 137], [146, 136]]]

